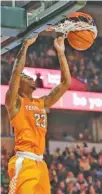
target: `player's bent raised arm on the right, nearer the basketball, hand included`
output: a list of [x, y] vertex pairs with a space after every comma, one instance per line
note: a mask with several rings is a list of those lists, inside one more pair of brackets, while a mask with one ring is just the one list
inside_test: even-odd
[[45, 107], [50, 107], [54, 103], [56, 103], [60, 99], [60, 97], [68, 90], [71, 84], [70, 70], [64, 54], [64, 38], [60, 37], [58, 39], [55, 39], [54, 46], [57, 50], [58, 59], [60, 62], [61, 83], [56, 88], [54, 88], [48, 96], [45, 96]]

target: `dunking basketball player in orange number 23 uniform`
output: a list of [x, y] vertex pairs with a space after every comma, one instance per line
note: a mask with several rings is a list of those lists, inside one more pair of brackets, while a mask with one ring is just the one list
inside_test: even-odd
[[11, 179], [9, 194], [50, 194], [50, 181], [43, 160], [47, 117], [45, 109], [55, 104], [68, 90], [71, 75], [64, 54], [64, 38], [54, 41], [61, 66], [61, 82], [49, 95], [32, 97], [34, 80], [23, 74], [26, 53], [37, 39], [26, 40], [17, 55], [6, 93], [5, 104], [15, 132], [15, 156], [8, 164]]

